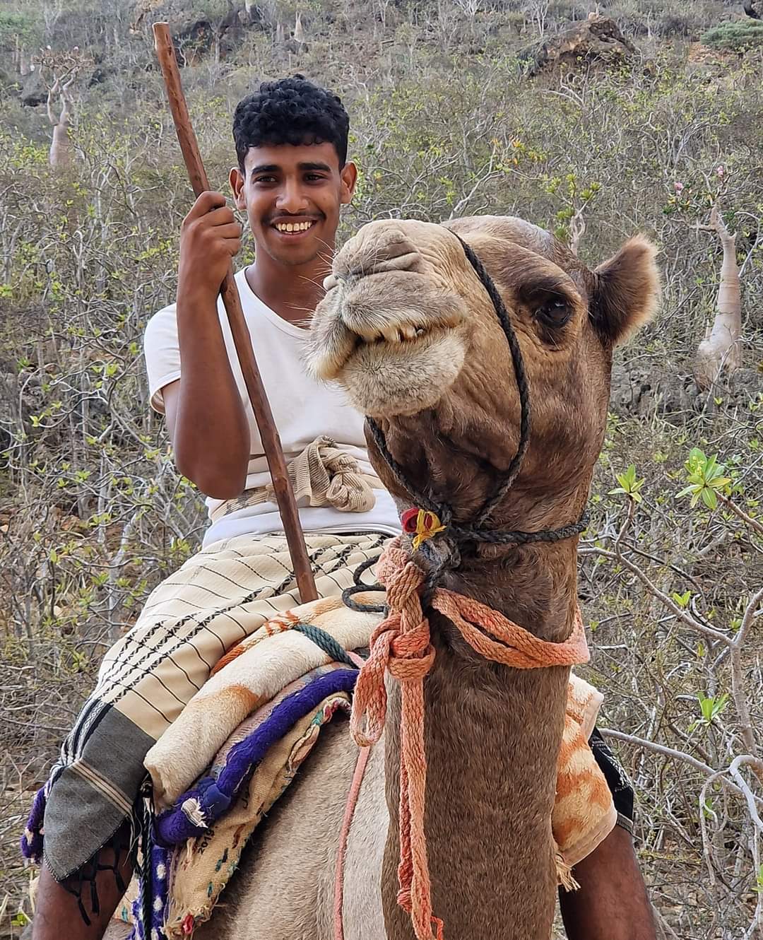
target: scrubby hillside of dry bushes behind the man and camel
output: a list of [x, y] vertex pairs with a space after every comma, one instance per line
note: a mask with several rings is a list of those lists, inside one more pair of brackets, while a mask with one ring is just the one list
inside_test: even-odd
[[[360, 185], [342, 237], [374, 218], [490, 212], [568, 238], [582, 213], [581, 255], [592, 266], [635, 232], [656, 241], [662, 309], [615, 365], [582, 542], [595, 650], [587, 675], [606, 695], [609, 727], [712, 768], [740, 753], [729, 657], [679, 615], [693, 611], [733, 637], [763, 583], [760, 535], [733, 509], [755, 522], [763, 462], [763, 53], [737, 39], [735, 52], [723, 51], [728, 43], [715, 37], [755, 35], [757, 24], [721, 2], [615, 0], [600, 8], [635, 54], [528, 78], [528, 50], [594, 6], [269, 0], [220, 32], [226, 3], [164, 3], [134, 28], [138, 10], [117, 0], [0, 3], [7, 931], [29, 913], [15, 852], [29, 794], [102, 652], [203, 531], [200, 497], [175, 472], [148, 408], [141, 356], [148, 317], [174, 296], [179, 224], [192, 198], [151, 49], [149, 23], [164, 14], [210, 180], [221, 189], [234, 159], [235, 103], [259, 81], [299, 70], [333, 86], [350, 110]], [[308, 42], [294, 53], [275, 42], [275, 27], [293, 23], [297, 9]], [[703, 34], [722, 51], [700, 47]], [[23, 103], [42, 100], [39, 76], [12, 67], [14, 50], [43, 43], [77, 45], [94, 59], [76, 87], [66, 172], [48, 165], [44, 104]], [[745, 368], [733, 386], [702, 397], [691, 358], [713, 313], [720, 251], [697, 226], [715, 198], [738, 233]], [[241, 263], [251, 257], [246, 243]], [[702, 468], [687, 464], [694, 446], [719, 455], [725, 476], [714, 479], [725, 480], [726, 502], [679, 497], [687, 484], [708, 489]], [[751, 631], [742, 675], [760, 746], [760, 627]], [[639, 852], [667, 927], [681, 938], [743, 935], [763, 884], [743, 805], [715, 785], [698, 812], [705, 777], [692, 765], [626, 744], [620, 756], [639, 791]]]

